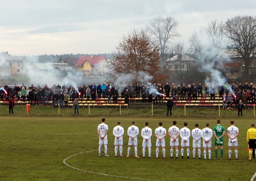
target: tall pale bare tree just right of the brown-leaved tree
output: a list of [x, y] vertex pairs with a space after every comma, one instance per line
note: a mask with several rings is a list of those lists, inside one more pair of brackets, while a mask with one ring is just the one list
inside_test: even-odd
[[172, 16], [167, 16], [166, 18], [157, 16], [146, 26], [147, 31], [154, 35], [155, 41], [159, 44], [162, 65], [164, 65], [165, 51], [168, 48], [170, 39], [180, 36], [177, 32], [178, 26], [178, 21]]

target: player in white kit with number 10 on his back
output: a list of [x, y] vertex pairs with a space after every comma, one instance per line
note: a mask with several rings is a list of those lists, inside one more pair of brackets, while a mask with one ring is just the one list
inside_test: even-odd
[[173, 146], [175, 146], [176, 158], [178, 158], [179, 154], [179, 136], [180, 136], [180, 129], [176, 126], [177, 122], [172, 122], [173, 126], [169, 128], [169, 136], [171, 137], [170, 146], [171, 146], [171, 158], [173, 158]]

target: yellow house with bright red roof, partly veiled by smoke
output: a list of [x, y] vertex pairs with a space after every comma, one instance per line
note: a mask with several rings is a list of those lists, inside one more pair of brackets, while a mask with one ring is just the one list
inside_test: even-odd
[[77, 71], [84, 75], [101, 75], [107, 72], [108, 60], [105, 56], [81, 56], [76, 62]]

